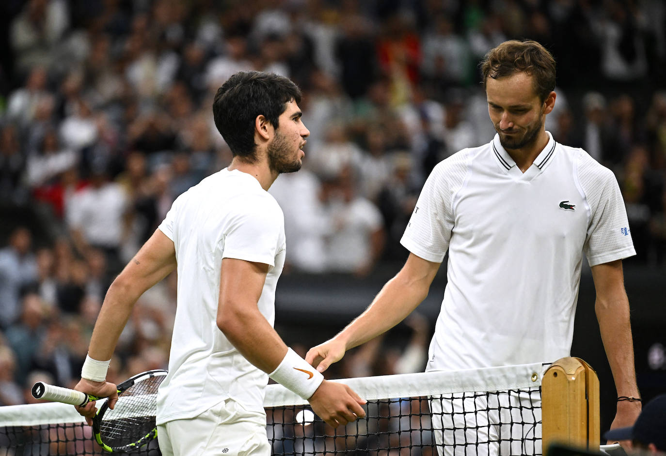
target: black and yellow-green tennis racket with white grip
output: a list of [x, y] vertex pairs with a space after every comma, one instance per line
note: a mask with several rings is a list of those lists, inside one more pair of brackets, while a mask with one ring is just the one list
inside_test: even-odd
[[[105, 401], [93, 418], [95, 440], [109, 453], [136, 450], [157, 437], [155, 410], [157, 388], [165, 379], [165, 370], [149, 370], [119, 384], [118, 401], [113, 409]], [[33, 397], [83, 406], [99, 398], [80, 391], [37, 382]]]

